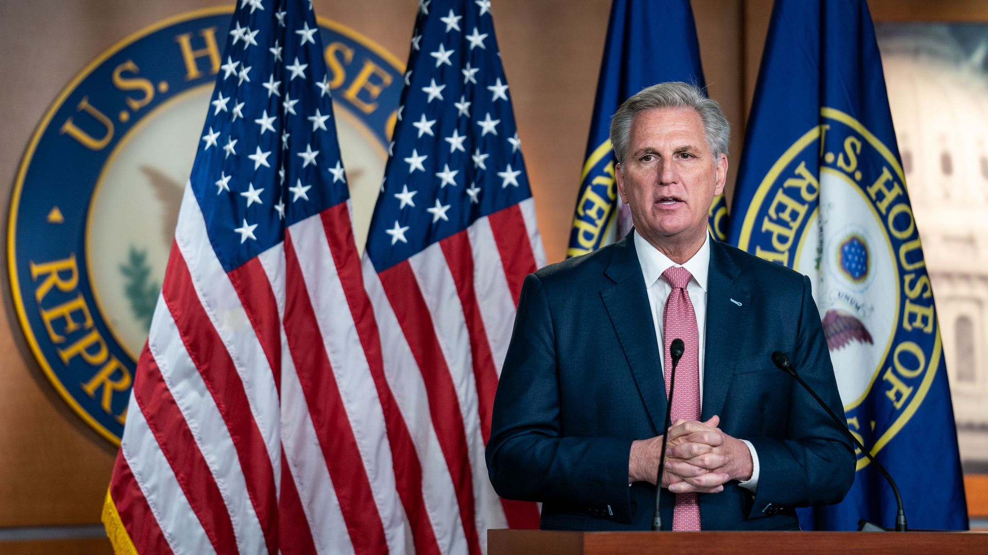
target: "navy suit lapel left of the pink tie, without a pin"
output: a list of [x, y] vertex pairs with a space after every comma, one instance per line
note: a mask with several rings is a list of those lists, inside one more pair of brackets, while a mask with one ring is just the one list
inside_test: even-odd
[[617, 339], [656, 434], [663, 430], [666, 415], [666, 388], [662, 377], [655, 326], [641, 266], [629, 233], [614, 246], [614, 255], [605, 274], [615, 284], [601, 290], [604, 306], [611, 316]]

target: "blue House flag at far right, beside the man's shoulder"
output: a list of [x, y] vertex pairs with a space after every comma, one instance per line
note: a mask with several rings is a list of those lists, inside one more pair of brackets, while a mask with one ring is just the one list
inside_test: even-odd
[[[909, 525], [965, 529], [933, 289], [864, 1], [776, 2], [731, 214], [733, 244], [811, 278], [848, 426], [898, 482]], [[894, 517], [859, 452], [844, 502], [800, 524]]]

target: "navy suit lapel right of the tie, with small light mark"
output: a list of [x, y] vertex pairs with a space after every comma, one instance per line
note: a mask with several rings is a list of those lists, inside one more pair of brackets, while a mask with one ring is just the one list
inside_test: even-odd
[[[703, 357], [703, 401], [700, 421], [720, 415], [734, 374], [738, 323], [744, 321], [751, 294], [736, 286], [739, 270], [718, 241], [710, 241], [710, 272], [706, 280], [706, 334]], [[723, 415], [720, 415], [723, 416]]]

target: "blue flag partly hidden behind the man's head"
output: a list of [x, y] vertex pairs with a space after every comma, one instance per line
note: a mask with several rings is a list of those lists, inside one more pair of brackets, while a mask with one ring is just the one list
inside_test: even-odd
[[[630, 214], [624, 213], [622, 217], [619, 213], [611, 117], [628, 97], [664, 81], [704, 86], [700, 45], [689, 0], [615, 0], [567, 257], [613, 243], [630, 228]], [[627, 211], [626, 207], [623, 211]], [[710, 214], [711, 224], [716, 220], [723, 230], [726, 206], [722, 197], [714, 199]], [[721, 232], [718, 237], [723, 236]]]

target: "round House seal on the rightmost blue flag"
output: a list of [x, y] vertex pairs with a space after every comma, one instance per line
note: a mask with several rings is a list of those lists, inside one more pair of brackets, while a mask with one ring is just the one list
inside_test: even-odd
[[738, 246], [811, 278], [848, 426], [876, 453], [923, 403], [940, 330], [896, 156], [843, 112], [820, 120], [762, 181]]

